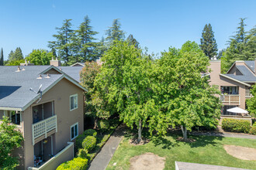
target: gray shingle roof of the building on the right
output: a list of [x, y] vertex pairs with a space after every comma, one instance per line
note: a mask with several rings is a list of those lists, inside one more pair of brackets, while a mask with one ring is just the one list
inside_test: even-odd
[[256, 76], [251, 73], [250, 70], [247, 69], [246, 66], [236, 66], [238, 70], [240, 70], [243, 75], [234, 75], [234, 74], [225, 74], [226, 76], [230, 76], [236, 80], [240, 80], [242, 82], [256, 82]]

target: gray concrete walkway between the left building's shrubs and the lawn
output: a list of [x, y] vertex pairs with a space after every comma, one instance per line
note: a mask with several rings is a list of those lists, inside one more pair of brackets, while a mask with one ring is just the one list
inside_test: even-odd
[[123, 129], [117, 128], [116, 131], [111, 135], [109, 140], [103, 146], [99, 154], [93, 159], [88, 170], [104, 170], [109, 165], [112, 155], [114, 155], [116, 148], [123, 138]]

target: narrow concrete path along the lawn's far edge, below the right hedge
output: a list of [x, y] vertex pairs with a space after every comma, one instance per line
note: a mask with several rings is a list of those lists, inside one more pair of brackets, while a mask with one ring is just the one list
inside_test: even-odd
[[205, 136], [220, 136], [220, 137], [231, 137], [231, 138], [247, 138], [247, 139], [256, 139], [256, 135], [253, 134], [238, 134], [238, 133], [230, 133], [230, 132], [192, 132], [189, 133], [192, 135], [205, 135]]

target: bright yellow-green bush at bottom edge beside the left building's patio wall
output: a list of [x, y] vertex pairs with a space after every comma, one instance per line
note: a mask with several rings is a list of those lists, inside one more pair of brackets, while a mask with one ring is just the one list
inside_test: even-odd
[[64, 162], [57, 167], [57, 170], [85, 170], [88, 166], [86, 158], [74, 158], [69, 162]]

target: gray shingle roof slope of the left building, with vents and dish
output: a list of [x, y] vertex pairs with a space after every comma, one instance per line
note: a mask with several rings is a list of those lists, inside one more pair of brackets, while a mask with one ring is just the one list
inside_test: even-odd
[[36, 79], [43, 70], [50, 66], [20, 66], [25, 68], [16, 72], [17, 66], [0, 66], [0, 107], [23, 108], [39, 94], [37, 91], [42, 84], [42, 91], [50, 87], [62, 74], [50, 75], [50, 78]]

